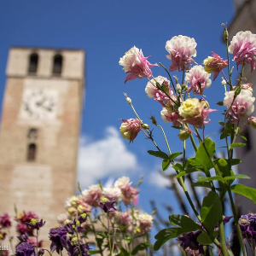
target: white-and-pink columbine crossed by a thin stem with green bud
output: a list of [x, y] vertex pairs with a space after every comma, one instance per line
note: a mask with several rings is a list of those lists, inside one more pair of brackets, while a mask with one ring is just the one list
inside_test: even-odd
[[[160, 84], [161, 88], [165, 92], [159, 90], [156, 87], [155, 81], [158, 84]], [[173, 92], [172, 92], [172, 89], [170, 88], [169, 80], [161, 76], [158, 76], [155, 79], [151, 79], [150, 81], [148, 81], [145, 91], [149, 98], [154, 98], [154, 100], [160, 102], [162, 106], [165, 106], [166, 102], [170, 101], [169, 97], [166, 96], [166, 94], [173, 97]]]

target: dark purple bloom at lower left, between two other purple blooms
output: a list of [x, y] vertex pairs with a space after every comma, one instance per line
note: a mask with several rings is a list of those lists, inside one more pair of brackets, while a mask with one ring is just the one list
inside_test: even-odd
[[66, 242], [67, 238], [67, 230], [64, 227], [56, 227], [49, 230], [49, 240], [51, 241], [50, 244], [50, 251], [60, 254], [63, 250], [63, 245]]

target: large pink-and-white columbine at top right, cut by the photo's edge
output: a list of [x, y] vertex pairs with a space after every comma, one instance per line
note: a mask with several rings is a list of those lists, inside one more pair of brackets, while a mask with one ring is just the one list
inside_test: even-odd
[[256, 35], [250, 31], [237, 32], [232, 38], [229, 46], [230, 54], [233, 54], [236, 66], [248, 63], [251, 65], [251, 72], [255, 69], [256, 61]]

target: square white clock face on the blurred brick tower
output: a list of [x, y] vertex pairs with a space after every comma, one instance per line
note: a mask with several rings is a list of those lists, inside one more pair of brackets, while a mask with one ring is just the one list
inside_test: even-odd
[[55, 119], [57, 92], [55, 90], [25, 90], [21, 116], [28, 119]]

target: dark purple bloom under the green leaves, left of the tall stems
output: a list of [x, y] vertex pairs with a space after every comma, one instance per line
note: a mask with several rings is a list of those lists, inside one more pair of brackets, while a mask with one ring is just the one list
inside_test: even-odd
[[203, 246], [196, 240], [201, 234], [201, 230], [184, 233], [182, 236], [177, 237], [177, 241], [181, 241], [180, 246], [185, 250], [189, 248], [193, 251], [199, 250], [199, 253], [204, 253]]

